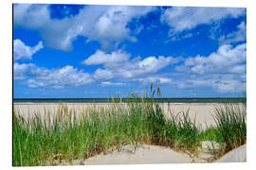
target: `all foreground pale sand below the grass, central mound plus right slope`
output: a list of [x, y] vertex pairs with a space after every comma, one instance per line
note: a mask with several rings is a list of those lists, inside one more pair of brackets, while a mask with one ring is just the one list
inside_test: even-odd
[[[205, 163], [211, 162], [213, 154], [201, 153], [192, 158], [188, 154], [176, 152], [170, 148], [158, 145], [124, 146], [122, 151], [115, 150], [110, 154], [100, 154], [85, 161], [74, 161], [74, 164], [157, 164], [157, 163]], [[247, 144], [244, 144], [213, 162], [246, 162]]]

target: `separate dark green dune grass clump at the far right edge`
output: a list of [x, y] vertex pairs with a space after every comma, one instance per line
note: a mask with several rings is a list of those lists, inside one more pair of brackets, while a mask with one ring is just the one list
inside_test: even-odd
[[243, 144], [247, 144], [247, 104], [219, 105], [215, 107], [214, 127], [207, 127], [200, 133], [200, 141], [214, 141], [220, 144], [217, 158]]

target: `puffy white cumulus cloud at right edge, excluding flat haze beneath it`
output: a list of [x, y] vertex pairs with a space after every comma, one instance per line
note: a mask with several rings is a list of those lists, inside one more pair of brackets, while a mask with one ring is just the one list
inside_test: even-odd
[[188, 58], [184, 65], [177, 66], [176, 71], [193, 74], [244, 74], [246, 73], [247, 44], [235, 47], [222, 45], [217, 52], [208, 57]]

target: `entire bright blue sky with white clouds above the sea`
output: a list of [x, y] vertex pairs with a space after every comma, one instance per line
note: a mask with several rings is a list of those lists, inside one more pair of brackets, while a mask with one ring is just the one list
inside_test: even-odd
[[241, 97], [246, 8], [13, 7], [14, 98]]

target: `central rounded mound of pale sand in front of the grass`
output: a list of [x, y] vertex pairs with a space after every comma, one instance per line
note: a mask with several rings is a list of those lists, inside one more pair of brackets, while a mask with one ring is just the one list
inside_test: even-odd
[[190, 163], [192, 158], [170, 148], [158, 145], [142, 145], [134, 148], [125, 147], [123, 151], [114, 151], [107, 155], [97, 155], [83, 161], [82, 164], [149, 164], [149, 163]]

